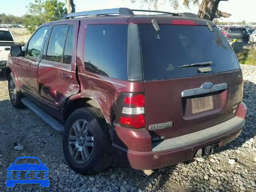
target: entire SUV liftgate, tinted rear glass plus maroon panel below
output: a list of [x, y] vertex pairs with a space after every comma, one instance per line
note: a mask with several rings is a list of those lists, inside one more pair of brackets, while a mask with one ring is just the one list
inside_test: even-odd
[[[241, 102], [242, 71], [219, 30], [170, 24], [159, 28], [139, 26], [146, 128], [152, 137], [172, 138], [234, 117]], [[202, 63], [207, 66], [198, 66]]]

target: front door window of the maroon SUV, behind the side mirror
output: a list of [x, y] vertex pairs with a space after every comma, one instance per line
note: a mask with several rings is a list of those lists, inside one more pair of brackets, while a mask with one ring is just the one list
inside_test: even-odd
[[44, 26], [36, 31], [36, 33], [32, 36], [30, 41], [28, 42], [28, 49], [26, 51], [27, 56], [40, 58], [42, 52], [42, 46], [44, 43], [44, 39], [46, 37], [46, 33], [49, 29], [49, 26]]

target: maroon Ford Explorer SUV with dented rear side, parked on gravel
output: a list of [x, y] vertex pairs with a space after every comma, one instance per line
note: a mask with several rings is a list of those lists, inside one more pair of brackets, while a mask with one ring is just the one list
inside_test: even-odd
[[216, 26], [133, 11], [71, 13], [11, 48], [12, 105], [63, 132], [65, 158], [82, 174], [207, 156], [244, 127], [242, 70]]

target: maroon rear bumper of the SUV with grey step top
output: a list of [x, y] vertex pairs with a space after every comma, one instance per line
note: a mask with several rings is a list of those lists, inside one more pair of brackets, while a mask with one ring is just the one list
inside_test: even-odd
[[[126, 149], [123, 146], [113, 144], [116, 148], [115, 154], [119, 162], [118, 165], [130, 166], [138, 170], [149, 170], [190, 160], [194, 158], [197, 150], [201, 148], [213, 144], [222, 146], [239, 136], [244, 128], [245, 115], [246, 106], [242, 103], [234, 118], [198, 132], [166, 139], [159, 144], [152, 145], [150, 151], [135, 151], [133, 146], [131, 146], [132, 149]], [[116, 130], [122, 131], [120, 128]], [[122, 135], [120, 133], [117, 134]], [[142, 134], [142, 137], [134, 134], [135, 138], [140, 139], [138, 142], [133, 141], [137, 145], [143, 145], [142, 139], [147, 138], [145, 132]], [[147, 146], [145, 147], [147, 148]]]

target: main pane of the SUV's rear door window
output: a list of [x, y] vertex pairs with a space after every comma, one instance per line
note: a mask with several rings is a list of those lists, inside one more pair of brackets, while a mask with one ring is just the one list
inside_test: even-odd
[[46, 60], [62, 62], [65, 39], [69, 25], [55, 25], [48, 42]]

